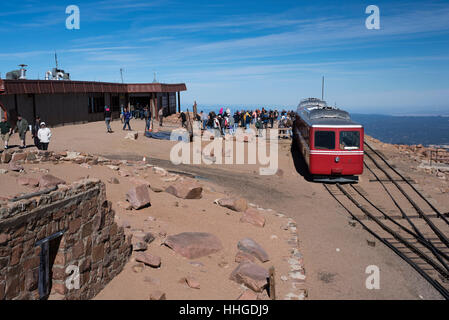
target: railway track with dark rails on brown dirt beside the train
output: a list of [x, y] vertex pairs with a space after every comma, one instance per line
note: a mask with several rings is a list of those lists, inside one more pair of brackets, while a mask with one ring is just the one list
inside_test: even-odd
[[324, 184], [364, 229], [413, 267], [449, 300], [449, 221], [385, 157], [365, 143], [371, 192], [352, 184]]

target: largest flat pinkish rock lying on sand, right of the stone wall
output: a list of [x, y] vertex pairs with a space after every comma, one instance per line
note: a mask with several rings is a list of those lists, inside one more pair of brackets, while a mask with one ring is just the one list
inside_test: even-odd
[[204, 232], [184, 232], [168, 236], [164, 244], [188, 259], [200, 258], [223, 249], [216, 236]]

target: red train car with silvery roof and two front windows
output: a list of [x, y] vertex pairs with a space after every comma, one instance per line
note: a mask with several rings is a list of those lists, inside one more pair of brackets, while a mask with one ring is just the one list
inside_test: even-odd
[[346, 111], [320, 99], [302, 100], [293, 131], [314, 181], [358, 181], [357, 175], [363, 173], [364, 131]]

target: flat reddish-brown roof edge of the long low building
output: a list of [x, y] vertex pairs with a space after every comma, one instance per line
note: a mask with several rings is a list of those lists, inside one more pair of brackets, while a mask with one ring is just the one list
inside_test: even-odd
[[1, 80], [0, 94], [151, 93], [186, 91], [185, 83], [111, 83], [67, 80]]

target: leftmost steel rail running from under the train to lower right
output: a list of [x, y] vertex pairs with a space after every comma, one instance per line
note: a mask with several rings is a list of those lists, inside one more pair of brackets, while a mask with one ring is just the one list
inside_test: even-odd
[[444, 288], [437, 280], [433, 279], [429, 276], [422, 268], [420, 268], [414, 261], [409, 259], [404, 253], [402, 253], [399, 249], [397, 249], [394, 245], [392, 245], [388, 240], [383, 239], [373, 230], [371, 230], [367, 225], [365, 225], [355, 214], [351, 212], [338, 198], [333, 194], [333, 192], [329, 189], [326, 184], [323, 184], [329, 194], [352, 216], [354, 220], [356, 220], [366, 231], [368, 231], [372, 236], [390, 248], [394, 253], [396, 253], [399, 257], [401, 257], [405, 262], [407, 262], [413, 269], [416, 270], [424, 279], [427, 280], [446, 300], [449, 300], [449, 291]]

